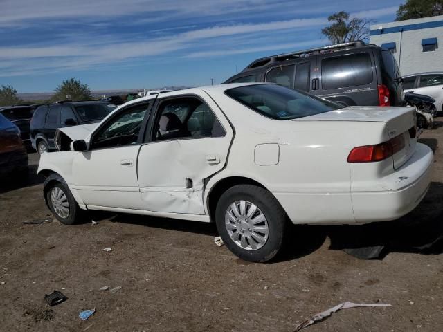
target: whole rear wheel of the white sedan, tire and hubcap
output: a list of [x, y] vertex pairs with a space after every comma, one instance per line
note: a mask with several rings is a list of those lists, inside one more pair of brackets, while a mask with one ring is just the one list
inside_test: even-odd
[[236, 185], [221, 195], [215, 222], [231, 252], [246, 261], [265, 262], [282, 247], [287, 216], [268, 190]]

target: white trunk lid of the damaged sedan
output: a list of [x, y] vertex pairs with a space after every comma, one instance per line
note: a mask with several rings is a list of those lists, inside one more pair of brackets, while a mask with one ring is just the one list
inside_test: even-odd
[[293, 121], [385, 122], [394, 149], [394, 169], [398, 169], [414, 154], [416, 117], [415, 107], [345, 107]]

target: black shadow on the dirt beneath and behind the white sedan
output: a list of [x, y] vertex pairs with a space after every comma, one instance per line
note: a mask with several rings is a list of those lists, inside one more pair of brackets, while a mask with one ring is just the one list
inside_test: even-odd
[[[218, 236], [215, 223], [94, 212], [94, 221], [105, 219]], [[344, 250], [360, 259], [383, 259], [390, 252], [440, 255], [443, 253], [443, 183], [431, 183], [417, 208], [395, 221], [367, 225], [290, 225], [288, 231], [287, 242], [280, 255], [271, 262], [290, 261], [311, 255], [323, 246], [327, 237], [330, 239], [330, 250]]]

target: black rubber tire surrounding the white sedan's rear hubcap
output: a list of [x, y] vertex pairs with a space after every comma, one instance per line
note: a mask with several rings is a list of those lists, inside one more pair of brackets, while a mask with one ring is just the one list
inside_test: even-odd
[[[231, 239], [226, 228], [226, 211], [231, 204], [242, 200], [253, 203], [261, 210], [269, 228], [266, 243], [256, 250], [247, 250], [239, 246]], [[287, 215], [277, 199], [268, 190], [255, 185], [235, 185], [221, 195], [215, 210], [215, 223], [221, 239], [231, 252], [245, 261], [263, 263], [273, 259], [282, 248], [287, 229]], [[244, 231], [246, 232], [246, 229]], [[242, 237], [242, 235], [239, 236]]]

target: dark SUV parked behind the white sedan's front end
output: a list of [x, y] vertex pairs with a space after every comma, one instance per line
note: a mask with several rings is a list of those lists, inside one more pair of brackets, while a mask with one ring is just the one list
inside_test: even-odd
[[57, 149], [55, 131], [61, 127], [100, 122], [116, 107], [107, 102], [56, 102], [34, 111], [30, 121], [30, 140], [38, 154]]

